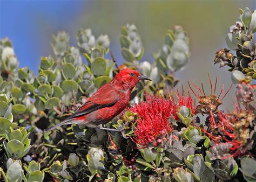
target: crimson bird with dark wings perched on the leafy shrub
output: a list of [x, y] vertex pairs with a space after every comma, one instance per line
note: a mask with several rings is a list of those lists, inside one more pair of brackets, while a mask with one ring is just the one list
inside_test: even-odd
[[123, 69], [113, 80], [100, 87], [74, 114], [46, 131], [73, 123], [95, 128], [111, 121], [126, 108], [132, 89], [139, 80], [151, 79], [132, 69]]

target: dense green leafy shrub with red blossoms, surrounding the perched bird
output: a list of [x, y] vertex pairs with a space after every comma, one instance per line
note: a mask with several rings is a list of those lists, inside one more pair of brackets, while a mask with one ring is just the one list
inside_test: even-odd
[[[214, 62], [230, 66], [237, 92], [220, 92], [209, 76], [203, 84], [174, 88], [174, 73], [190, 57], [182, 27], [168, 30], [152, 63], [134, 25], [121, 28], [123, 65], [104, 58], [107, 35], [90, 29], [53, 36], [54, 56], [42, 57], [38, 73], [18, 68], [8, 38], [0, 40], [0, 179], [5, 181], [256, 181], [256, 12], [240, 10], [227, 34], [227, 48]], [[82, 56], [84, 58], [82, 58]], [[85, 59], [86, 64], [83, 62]], [[153, 82], [139, 82], [131, 105], [105, 131], [78, 125], [44, 130], [72, 114], [121, 69], [137, 69]], [[222, 100], [235, 95], [233, 111]], [[204, 117], [201, 117], [204, 116]], [[205, 119], [202, 119], [205, 118]]]

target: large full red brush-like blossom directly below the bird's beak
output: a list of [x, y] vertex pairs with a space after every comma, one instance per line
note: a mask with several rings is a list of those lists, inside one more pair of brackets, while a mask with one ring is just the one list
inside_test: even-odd
[[172, 114], [173, 101], [171, 98], [156, 98], [146, 96], [146, 101], [141, 101], [127, 110], [138, 114], [137, 127], [134, 131], [134, 141], [139, 148], [146, 148], [151, 144], [161, 146], [166, 140], [166, 135], [172, 131], [169, 117]]

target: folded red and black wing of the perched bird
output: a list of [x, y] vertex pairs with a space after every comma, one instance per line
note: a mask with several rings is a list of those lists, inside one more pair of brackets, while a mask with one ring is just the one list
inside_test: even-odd
[[68, 119], [86, 115], [104, 107], [113, 106], [118, 100], [119, 93], [109, 87], [100, 88]]

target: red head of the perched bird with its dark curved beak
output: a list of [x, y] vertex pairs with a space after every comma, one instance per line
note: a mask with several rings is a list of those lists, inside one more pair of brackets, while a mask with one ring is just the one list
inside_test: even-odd
[[140, 74], [132, 69], [122, 69], [113, 79], [114, 84], [122, 87], [124, 90], [132, 90], [139, 80], [150, 80], [147, 76]]

